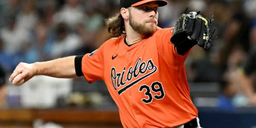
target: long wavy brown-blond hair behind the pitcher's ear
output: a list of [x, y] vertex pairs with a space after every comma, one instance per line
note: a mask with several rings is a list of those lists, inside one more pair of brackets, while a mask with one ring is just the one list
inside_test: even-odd
[[120, 36], [124, 36], [125, 32], [125, 23], [124, 18], [120, 13], [115, 14], [113, 17], [105, 19], [106, 29], [109, 33]]

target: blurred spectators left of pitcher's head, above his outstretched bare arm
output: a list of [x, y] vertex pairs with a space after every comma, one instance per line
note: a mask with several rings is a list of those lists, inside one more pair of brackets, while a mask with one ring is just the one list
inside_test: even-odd
[[[115, 1], [1, 0], [0, 60], [12, 71], [17, 63], [84, 55], [109, 35], [104, 18]], [[113, 13], [107, 13], [113, 12]]]

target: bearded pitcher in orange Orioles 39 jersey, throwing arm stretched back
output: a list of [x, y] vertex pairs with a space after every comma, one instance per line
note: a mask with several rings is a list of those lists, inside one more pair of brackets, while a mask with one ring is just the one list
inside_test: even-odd
[[124, 128], [201, 128], [189, 95], [185, 59], [196, 44], [210, 47], [212, 18], [190, 12], [182, 14], [174, 27], [162, 29], [157, 26], [157, 9], [167, 4], [120, 0], [120, 13], [105, 21], [118, 38], [84, 56], [20, 63], [9, 81], [23, 83], [34, 75], [84, 76], [89, 83], [103, 80]]

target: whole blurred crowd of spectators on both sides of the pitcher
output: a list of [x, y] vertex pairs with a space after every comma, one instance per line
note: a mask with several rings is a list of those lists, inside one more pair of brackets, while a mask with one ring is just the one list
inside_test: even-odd
[[[214, 15], [211, 49], [194, 46], [186, 60], [188, 82], [220, 83], [217, 106], [251, 104], [241, 100], [239, 74], [256, 49], [255, 0], [168, 0], [158, 9], [158, 26], [172, 27], [188, 7], [200, 15]], [[119, 11], [119, 0], [1, 0], [0, 64], [11, 73], [19, 62], [33, 63], [70, 55], [84, 55], [114, 37], [104, 19]], [[254, 57], [256, 58], [256, 57]], [[255, 85], [255, 66], [244, 73]], [[242, 98], [243, 99], [243, 98]], [[250, 100], [249, 100], [250, 101]], [[256, 102], [256, 100], [255, 100]], [[256, 104], [256, 103], [255, 103]]]

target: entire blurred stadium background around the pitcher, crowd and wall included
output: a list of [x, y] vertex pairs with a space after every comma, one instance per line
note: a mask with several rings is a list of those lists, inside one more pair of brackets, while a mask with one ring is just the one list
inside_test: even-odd
[[[186, 60], [201, 126], [255, 128], [256, 95], [248, 98], [243, 87], [256, 87], [256, 0], [168, 2], [158, 10], [162, 28], [174, 26], [186, 7], [214, 15], [218, 38], [208, 51], [194, 46]], [[0, 127], [122, 127], [103, 81], [35, 76], [20, 87], [8, 81], [19, 62], [94, 51], [114, 37], [104, 19], [118, 11], [119, 0], [0, 0]]]

